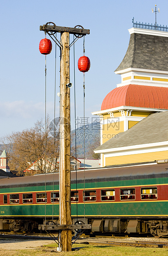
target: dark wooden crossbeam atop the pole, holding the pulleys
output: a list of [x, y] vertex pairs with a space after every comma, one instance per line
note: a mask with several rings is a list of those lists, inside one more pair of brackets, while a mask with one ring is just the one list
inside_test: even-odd
[[40, 26], [40, 31], [50, 31], [50, 32], [69, 32], [70, 34], [75, 35], [83, 35], [90, 34], [89, 29], [83, 29], [83, 28], [69, 28], [69, 27], [60, 27], [60, 26], [54, 26], [54, 25], [43, 25]]

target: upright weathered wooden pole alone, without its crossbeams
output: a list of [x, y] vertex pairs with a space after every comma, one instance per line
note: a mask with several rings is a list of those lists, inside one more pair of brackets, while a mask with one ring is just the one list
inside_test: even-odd
[[[60, 94], [61, 94], [61, 154], [60, 154], [60, 220], [72, 224], [70, 205], [70, 48], [69, 32], [61, 33]], [[62, 251], [71, 251], [72, 230], [61, 231]]]

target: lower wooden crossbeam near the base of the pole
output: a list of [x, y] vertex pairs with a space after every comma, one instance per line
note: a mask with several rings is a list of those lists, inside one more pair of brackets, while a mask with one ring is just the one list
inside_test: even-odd
[[39, 230], [79, 230], [91, 229], [90, 224], [73, 224], [73, 225], [39, 225]]

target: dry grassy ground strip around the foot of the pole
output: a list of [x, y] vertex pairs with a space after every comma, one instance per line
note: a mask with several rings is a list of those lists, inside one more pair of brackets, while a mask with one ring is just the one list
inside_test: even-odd
[[56, 249], [56, 244], [50, 244], [42, 248], [27, 250], [0, 250], [1, 256], [167, 256], [165, 248], [139, 248], [139, 247], [113, 247], [75, 244], [73, 247], [84, 247], [72, 252], [46, 252], [42, 249]]

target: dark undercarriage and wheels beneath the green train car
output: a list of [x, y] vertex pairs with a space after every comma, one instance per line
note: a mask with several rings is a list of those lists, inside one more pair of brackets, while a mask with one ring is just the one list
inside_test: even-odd
[[[168, 220], [149, 219], [110, 219], [110, 218], [73, 218], [72, 223], [91, 224], [87, 233], [103, 234], [151, 234], [155, 237], [168, 236]], [[0, 219], [0, 230], [13, 232], [32, 232], [38, 230], [39, 224], [57, 225], [57, 220], [43, 219]]]

